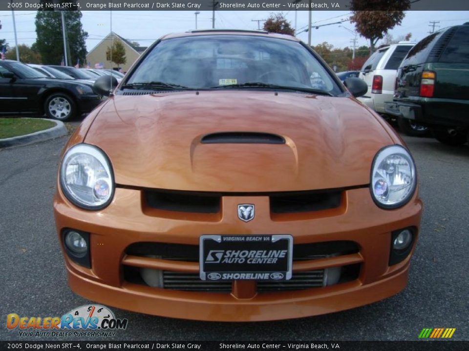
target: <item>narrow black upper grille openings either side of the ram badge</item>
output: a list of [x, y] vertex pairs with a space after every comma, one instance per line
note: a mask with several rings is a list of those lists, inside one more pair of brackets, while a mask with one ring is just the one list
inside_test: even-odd
[[144, 190], [150, 208], [185, 213], [216, 214], [222, 196], [269, 196], [273, 214], [315, 212], [338, 208], [343, 189], [282, 193], [211, 193], [191, 191]]

